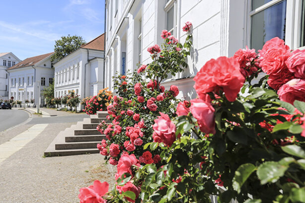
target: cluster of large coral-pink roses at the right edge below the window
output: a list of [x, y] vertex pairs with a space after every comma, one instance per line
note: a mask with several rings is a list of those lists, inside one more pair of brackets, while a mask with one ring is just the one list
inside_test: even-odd
[[260, 53], [260, 66], [269, 75], [268, 84], [278, 90], [280, 100], [305, 101], [305, 51], [291, 52], [278, 37], [265, 43]]

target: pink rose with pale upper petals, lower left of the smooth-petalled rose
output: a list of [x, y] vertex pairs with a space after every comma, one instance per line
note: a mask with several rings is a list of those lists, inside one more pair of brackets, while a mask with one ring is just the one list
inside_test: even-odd
[[161, 116], [155, 119], [153, 124], [154, 136], [158, 136], [164, 144], [171, 146], [176, 140], [176, 126], [167, 114], [159, 113]]

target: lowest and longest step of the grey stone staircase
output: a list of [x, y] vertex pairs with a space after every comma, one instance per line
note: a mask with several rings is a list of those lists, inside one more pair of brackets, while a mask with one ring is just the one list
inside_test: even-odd
[[70, 155], [79, 155], [79, 154], [96, 154], [99, 153], [99, 150], [95, 148], [87, 149], [66, 149], [66, 150], [46, 150], [44, 155], [48, 156], [70, 156]]

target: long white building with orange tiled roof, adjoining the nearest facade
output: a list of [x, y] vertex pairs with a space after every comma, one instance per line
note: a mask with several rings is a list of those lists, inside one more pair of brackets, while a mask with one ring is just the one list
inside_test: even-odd
[[54, 64], [54, 97], [74, 90], [81, 99], [103, 88], [104, 37], [102, 34]]

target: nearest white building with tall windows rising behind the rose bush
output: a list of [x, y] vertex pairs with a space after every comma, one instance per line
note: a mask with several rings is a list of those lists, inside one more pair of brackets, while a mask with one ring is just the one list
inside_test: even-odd
[[189, 68], [163, 82], [179, 97], [194, 98], [193, 77], [210, 59], [231, 57], [248, 46], [259, 50], [273, 37], [292, 49], [305, 47], [305, 0], [106, 0], [105, 87], [116, 71], [125, 74], [151, 62], [147, 48], [162, 43], [167, 29], [184, 42], [182, 27], [193, 24]]

